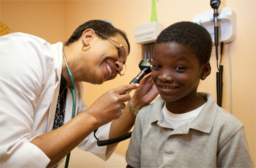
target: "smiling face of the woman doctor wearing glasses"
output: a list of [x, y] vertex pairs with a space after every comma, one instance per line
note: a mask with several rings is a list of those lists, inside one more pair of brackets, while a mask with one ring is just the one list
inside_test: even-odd
[[[97, 33], [96, 33], [97, 34]], [[118, 74], [123, 75], [126, 70], [126, 59], [128, 57], [128, 45], [121, 34], [102, 39], [98, 34], [90, 48], [90, 83], [102, 84], [107, 80], [116, 78]], [[103, 35], [104, 36], [104, 35]]]

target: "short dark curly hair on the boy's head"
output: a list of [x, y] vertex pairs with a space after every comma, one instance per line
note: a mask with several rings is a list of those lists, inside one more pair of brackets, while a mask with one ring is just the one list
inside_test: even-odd
[[156, 44], [175, 42], [187, 45], [198, 57], [200, 64], [209, 62], [212, 38], [206, 28], [194, 22], [177, 22], [170, 25], [156, 38]]

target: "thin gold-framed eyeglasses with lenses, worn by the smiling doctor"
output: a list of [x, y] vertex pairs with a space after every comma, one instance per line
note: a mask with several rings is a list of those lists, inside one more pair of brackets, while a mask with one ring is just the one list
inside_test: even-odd
[[124, 48], [121, 43], [113, 40], [112, 38], [109, 38], [109, 37], [107, 37], [103, 34], [97, 33], [97, 32], [95, 32], [95, 33], [107, 38], [107, 40], [116, 47], [116, 50], [119, 54], [119, 62], [121, 62], [123, 64], [123, 69], [121, 71], [119, 71], [118, 73], [120, 76], [123, 76], [124, 73], [126, 73], [126, 48]]

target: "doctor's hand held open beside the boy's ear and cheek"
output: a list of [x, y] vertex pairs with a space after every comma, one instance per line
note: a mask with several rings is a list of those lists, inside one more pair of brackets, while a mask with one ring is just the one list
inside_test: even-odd
[[152, 102], [159, 95], [159, 90], [156, 89], [156, 85], [151, 78], [151, 75], [142, 78], [140, 81], [140, 87], [135, 90], [130, 102], [136, 109], [141, 109]]

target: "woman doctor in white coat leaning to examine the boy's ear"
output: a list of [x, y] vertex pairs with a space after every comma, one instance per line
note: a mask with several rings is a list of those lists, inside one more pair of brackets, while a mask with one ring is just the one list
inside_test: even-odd
[[[124, 102], [140, 109], [158, 92], [148, 76], [140, 86], [109, 90], [87, 107], [81, 82], [100, 85], [123, 75], [129, 52], [126, 34], [101, 20], [80, 25], [64, 46], [23, 33], [1, 36], [0, 167], [55, 167], [76, 146], [107, 160], [116, 145], [98, 147], [91, 132], [99, 128], [99, 139], [127, 133], [135, 115]], [[76, 90], [72, 120], [67, 66]], [[133, 97], [123, 94], [135, 89]]]

